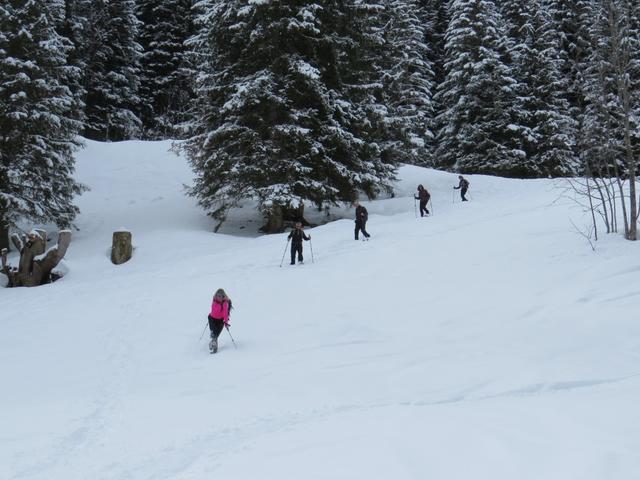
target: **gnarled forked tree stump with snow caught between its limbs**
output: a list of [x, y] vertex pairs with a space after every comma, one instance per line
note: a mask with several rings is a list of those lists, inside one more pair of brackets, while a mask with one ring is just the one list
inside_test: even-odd
[[11, 267], [7, 263], [7, 250], [2, 250], [2, 273], [9, 278], [8, 286], [35, 287], [51, 282], [51, 271], [64, 258], [71, 243], [71, 232], [58, 232], [58, 243], [46, 252], [46, 232], [43, 230], [32, 230], [23, 239], [14, 234], [11, 241], [20, 252], [20, 261], [18, 268]]

